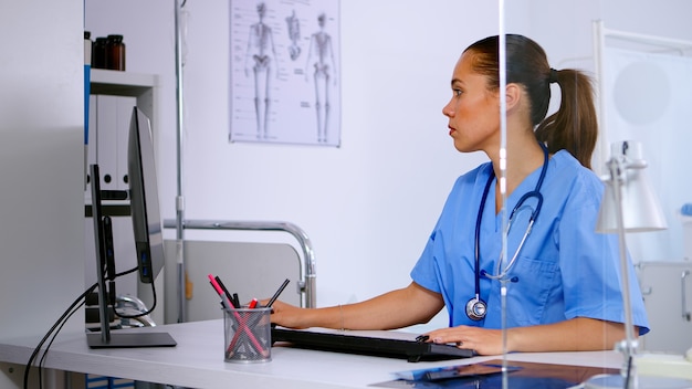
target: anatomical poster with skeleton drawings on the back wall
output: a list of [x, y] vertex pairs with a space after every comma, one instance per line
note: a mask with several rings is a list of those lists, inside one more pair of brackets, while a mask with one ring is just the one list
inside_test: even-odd
[[231, 1], [230, 141], [339, 146], [338, 6]]

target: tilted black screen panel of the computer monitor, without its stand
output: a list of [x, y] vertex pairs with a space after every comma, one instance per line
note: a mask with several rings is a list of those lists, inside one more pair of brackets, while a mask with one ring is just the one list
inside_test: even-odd
[[162, 224], [151, 126], [136, 106], [129, 125], [127, 170], [139, 280], [153, 283], [164, 266]]

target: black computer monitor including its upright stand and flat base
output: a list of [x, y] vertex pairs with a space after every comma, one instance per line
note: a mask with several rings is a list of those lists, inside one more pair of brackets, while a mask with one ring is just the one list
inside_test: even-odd
[[[127, 149], [129, 181], [129, 208], [133, 220], [137, 269], [143, 283], [154, 284], [164, 266], [164, 238], [158, 185], [154, 158], [154, 140], [149, 118], [134, 107]], [[105, 269], [109, 255], [107, 219], [103, 214], [98, 166], [91, 167], [92, 176], [92, 217], [94, 218], [94, 239], [96, 244], [96, 269], [98, 277], [98, 309], [101, 333], [87, 334], [91, 348], [123, 347], [161, 347], [175, 346], [175, 339], [167, 333], [117, 330], [111, 333], [108, 323], [108, 298], [106, 297]], [[106, 224], [104, 224], [104, 220]], [[151, 285], [154, 286], [154, 285]]]

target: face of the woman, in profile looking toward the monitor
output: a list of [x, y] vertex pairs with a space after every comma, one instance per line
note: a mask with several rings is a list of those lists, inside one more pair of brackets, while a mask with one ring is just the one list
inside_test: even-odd
[[500, 98], [487, 90], [486, 77], [473, 71], [474, 53], [464, 52], [452, 74], [452, 98], [442, 108], [449, 118], [449, 135], [462, 153], [497, 150]]

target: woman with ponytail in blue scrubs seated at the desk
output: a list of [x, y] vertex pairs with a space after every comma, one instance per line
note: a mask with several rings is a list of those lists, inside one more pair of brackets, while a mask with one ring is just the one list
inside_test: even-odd
[[[559, 109], [546, 118], [551, 84]], [[324, 308], [274, 303], [272, 322], [294, 328], [391, 329], [429, 322], [442, 308], [449, 327], [429, 341], [502, 354], [500, 291], [507, 285], [507, 350], [611, 349], [625, 338], [617, 236], [595, 232], [604, 187], [590, 170], [597, 119], [590, 80], [554, 70], [531, 39], [506, 35], [506, 88], [500, 90], [499, 38], [461, 54], [442, 113], [461, 153], [490, 158], [457, 179], [412, 282], [368, 301]], [[502, 253], [500, 94], [506, 107], [506, 209]], [[635, 274], [633, 271], [630, 275]], [[635, 334], [648, 322], [630, 280]]]

